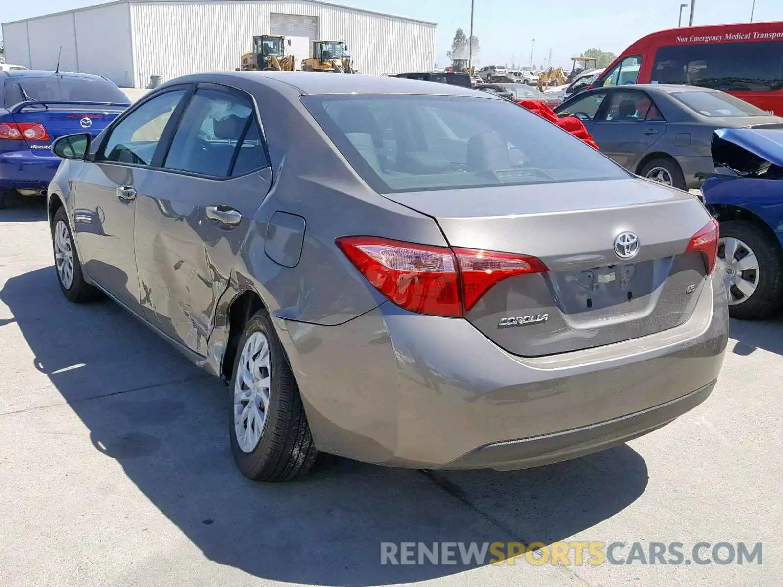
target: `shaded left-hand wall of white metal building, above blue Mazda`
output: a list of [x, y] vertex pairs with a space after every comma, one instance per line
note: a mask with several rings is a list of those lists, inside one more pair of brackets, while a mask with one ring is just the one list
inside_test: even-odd
[[60, 71], [103, 75], [117, 85], [133, 85], [127, 3], [4, 24], [2, 30], [8, 63], [54, 70], [62, 47]]

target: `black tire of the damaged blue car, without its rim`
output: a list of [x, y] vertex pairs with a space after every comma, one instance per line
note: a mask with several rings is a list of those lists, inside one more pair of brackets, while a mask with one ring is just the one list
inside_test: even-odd
[[745, 220], [721, 222], [720, 238], [727, 237], [742, 240], [759, 262], [756, 290], [741, 304], [729, 306], [729, 315], [739, 320], [770, 318], [783, 305], [783, 251], [778, 239], [772, 238], [763, 227]]

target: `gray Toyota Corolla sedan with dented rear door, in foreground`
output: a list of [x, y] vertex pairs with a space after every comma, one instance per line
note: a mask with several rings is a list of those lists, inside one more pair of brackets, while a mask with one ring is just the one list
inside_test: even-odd
[[720, 373], [702, 203], [496, 96], [196, 74], [54, 150], [52, 279], [226, 380], [251, 479], [298, 477], [319, 450], [572, 459], [669, 423]]

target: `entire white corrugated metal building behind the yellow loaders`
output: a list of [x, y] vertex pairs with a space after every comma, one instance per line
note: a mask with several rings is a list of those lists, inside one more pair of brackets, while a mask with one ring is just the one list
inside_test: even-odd
[[258, 34], [290, 38], [298, 64], [311, 41], [345, 41], [368, 75], [431, 70], [435, 61], [435, 23], [316, 0], [120, 0], [4, 23], [2, 33], [9, 63], [54, 70], [62, 51], [60, 71], [131, 88], [152, 75], [236, 70]]

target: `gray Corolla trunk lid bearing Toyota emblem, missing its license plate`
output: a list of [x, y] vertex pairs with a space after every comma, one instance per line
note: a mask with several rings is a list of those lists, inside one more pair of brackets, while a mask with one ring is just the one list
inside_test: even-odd
[[[709, 221], [689, 193], [642, 179], [388, 194], [428, 214], [452, 247], [532, 255], [547, 273], [496, 283], [467, 313], [515, 355], [612, 344], [688, 319], [705, 285], [699, 253], [685, 253]], [[637, 236], [623, 260], [615, 239]], [[620, 247], [622, 250], [622, 247]]]

